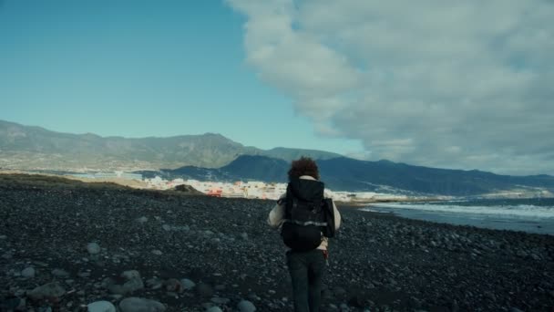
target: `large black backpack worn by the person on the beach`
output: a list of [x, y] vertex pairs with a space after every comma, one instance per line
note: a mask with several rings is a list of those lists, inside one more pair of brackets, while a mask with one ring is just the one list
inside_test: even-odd
[[[333, 237], [333, 202], [323, 198], [323, 182], [307, 179], [292, 179], [287, 186], [282, 224], [282, 240], [295, 251], [308, 251], [317, 248], [323, 234]], [[329, 214], [328, 203], [331, 203]], [[329, 235], [330, 225], [333, 233]]]

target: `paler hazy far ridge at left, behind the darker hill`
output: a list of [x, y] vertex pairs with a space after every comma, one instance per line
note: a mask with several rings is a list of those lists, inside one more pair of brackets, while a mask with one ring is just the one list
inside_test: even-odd
[[126, 139], [96, 134], [70, 134], [0, 120], [0, 168], [21, 170], [158, 170], [197, 166], [220, 168], [239, 155], [264, 155], [291, 161], [339, 156], [327, 151], [277, 148], [263, 151], [243, 146], [221, 134]]

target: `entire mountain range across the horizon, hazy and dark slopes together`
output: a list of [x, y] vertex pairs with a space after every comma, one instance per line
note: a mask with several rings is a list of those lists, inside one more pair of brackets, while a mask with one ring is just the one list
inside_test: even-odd
[[244, 146], [220, 134], [126, 139], [69, 134], [0, 120], [0, 168], [62, 172], [140, 172], [201, 181], [286, 182], [290, 161], [317, 160], [326, 186], [349, 192], [552, 195], [554, 177], [436, 169], [392, 161], [359, 161], [328, 151]]

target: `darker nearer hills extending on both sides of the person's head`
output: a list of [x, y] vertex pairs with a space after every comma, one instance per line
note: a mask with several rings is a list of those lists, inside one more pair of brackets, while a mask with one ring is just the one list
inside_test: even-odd
[[[411, 192], [453, 196], [518, 190], [530, 194], [554, 192], [554, 177], [515, 177], [490, 172], [460, 171], [411, 166], [392, 161], [357, 161], [345, 157], [317, 161], [325, 185], [334, 191]], [[265, 156], [241, 156], [219, 169], [183, 167], [142, 172], [147, 177], [185, 178], [200, 181], [286, 182], [290, 163]]]

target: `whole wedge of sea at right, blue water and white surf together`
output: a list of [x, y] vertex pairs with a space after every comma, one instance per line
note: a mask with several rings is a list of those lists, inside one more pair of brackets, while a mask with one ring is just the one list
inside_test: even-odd
[[364, 210], [437, 223], [554, 235], [554, 198], [372, 203]]

